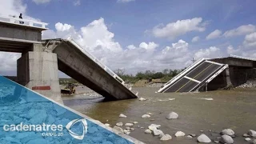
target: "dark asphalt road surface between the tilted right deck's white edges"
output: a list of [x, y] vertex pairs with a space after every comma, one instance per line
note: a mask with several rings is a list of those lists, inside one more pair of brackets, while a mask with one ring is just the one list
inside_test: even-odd
[[202, 62], [186, 76], [180, 78], [178, 82], [174, 82], [165, 92], [190, 92], [197, 88], [200, 83], [206, 81], [206, 78], [209, 78], [220, 67], [222, 66], [215, 63]]

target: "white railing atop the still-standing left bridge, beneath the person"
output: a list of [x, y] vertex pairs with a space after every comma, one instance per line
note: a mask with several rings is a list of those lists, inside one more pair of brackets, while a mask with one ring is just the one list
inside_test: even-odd
[[14, 17], [6, 17], [0, 15], [0, 22], [9, 22], [9, 23], [14, 23], [22, 26], [32, 26], [32, 27], [38, 27], [42, 29], [46, 29], [46, 26], [48, 23], [45, 22], [37, 22], [37, 21], [32, 21], [29, 19], [21, 19], [21, 18], [14, 18]]

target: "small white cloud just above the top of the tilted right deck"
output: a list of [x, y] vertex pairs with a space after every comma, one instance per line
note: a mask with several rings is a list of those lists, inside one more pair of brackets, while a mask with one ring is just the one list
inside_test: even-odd
[[224, 56], [224, 54], [222, 54], [222, 51], [218, 47], [215, 47], [215, 46], [210, 46], [207, 49], [200, 49], [194, 54], [195, 59], [220, 58], [222, 56]]

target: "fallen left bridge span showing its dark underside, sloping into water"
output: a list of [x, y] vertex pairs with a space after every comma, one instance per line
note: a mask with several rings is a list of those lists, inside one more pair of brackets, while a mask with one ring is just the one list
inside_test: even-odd
[[138, 98], [125, 82], [72, 38], [44, 41], [57, 54], [58, 70], [108, 99]]

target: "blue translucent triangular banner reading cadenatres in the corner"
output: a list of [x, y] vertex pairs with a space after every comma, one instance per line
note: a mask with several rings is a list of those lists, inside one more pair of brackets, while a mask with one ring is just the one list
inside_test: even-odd
[[1, 144], [130, 144], [26, 87], [0, 76]]

